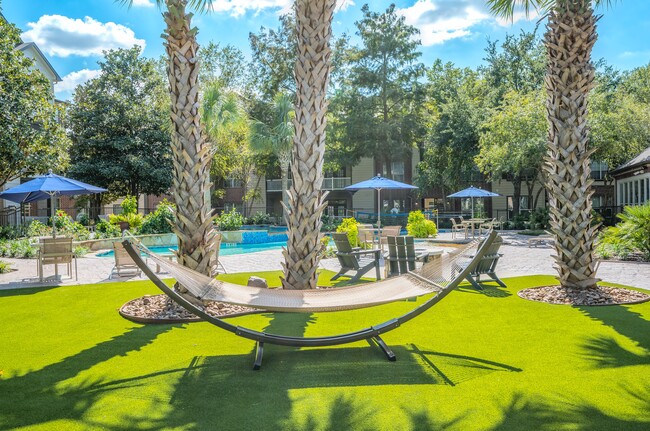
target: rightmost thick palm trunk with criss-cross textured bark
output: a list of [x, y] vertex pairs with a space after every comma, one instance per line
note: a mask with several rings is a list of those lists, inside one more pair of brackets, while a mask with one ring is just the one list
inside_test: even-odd
[[593, 87], [591, 50], [596, 21], [590, 0], [563, 0], [549, 14], [545, 44], [549, 122], [548, 192], [555, 268], [563, 287], [594, 287], [591, 169], [587, 96]]

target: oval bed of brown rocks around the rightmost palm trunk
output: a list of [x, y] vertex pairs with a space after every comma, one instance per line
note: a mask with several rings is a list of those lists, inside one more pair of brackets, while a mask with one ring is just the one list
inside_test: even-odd
[[558, 285], [542, 286], [520, 290], [518, 295], [524, 299], [549, 304], [586, 306], [637, 304], [650, 300], [648, 294], [608, 286], [588, 289], [565, 288]]

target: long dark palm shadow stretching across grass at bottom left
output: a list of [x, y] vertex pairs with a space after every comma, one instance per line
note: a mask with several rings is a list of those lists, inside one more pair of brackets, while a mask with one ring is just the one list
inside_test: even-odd
[[0, 380], [0, 429], [62, 419], [84, 422], [86, 411], [111, 388], [100, 379], [65, 381], [115, 356], [142, 349], [172, 327], [137, 327], [40, 370]]

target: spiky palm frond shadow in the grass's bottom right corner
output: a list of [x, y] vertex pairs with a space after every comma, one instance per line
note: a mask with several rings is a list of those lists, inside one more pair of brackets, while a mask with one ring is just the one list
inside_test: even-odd
[[635, 413], [617, 417], [586, 400], [558, 396], [556, 399], [527, 399], [516, 394], [503, 410], [503, 420], [492, 431], [571, 429], [578, 431], [646, 431], [650, 429], [650, 385], [621, 389], [624, 405]]

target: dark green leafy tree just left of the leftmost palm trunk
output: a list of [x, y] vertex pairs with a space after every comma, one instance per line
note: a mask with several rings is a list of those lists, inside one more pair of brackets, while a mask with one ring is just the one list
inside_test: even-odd
[[106, 52], [70, 108], [70, 174], [119, 196], [171, 186], [169, 99], [154, 62], [139, 56], [139, 47]]

